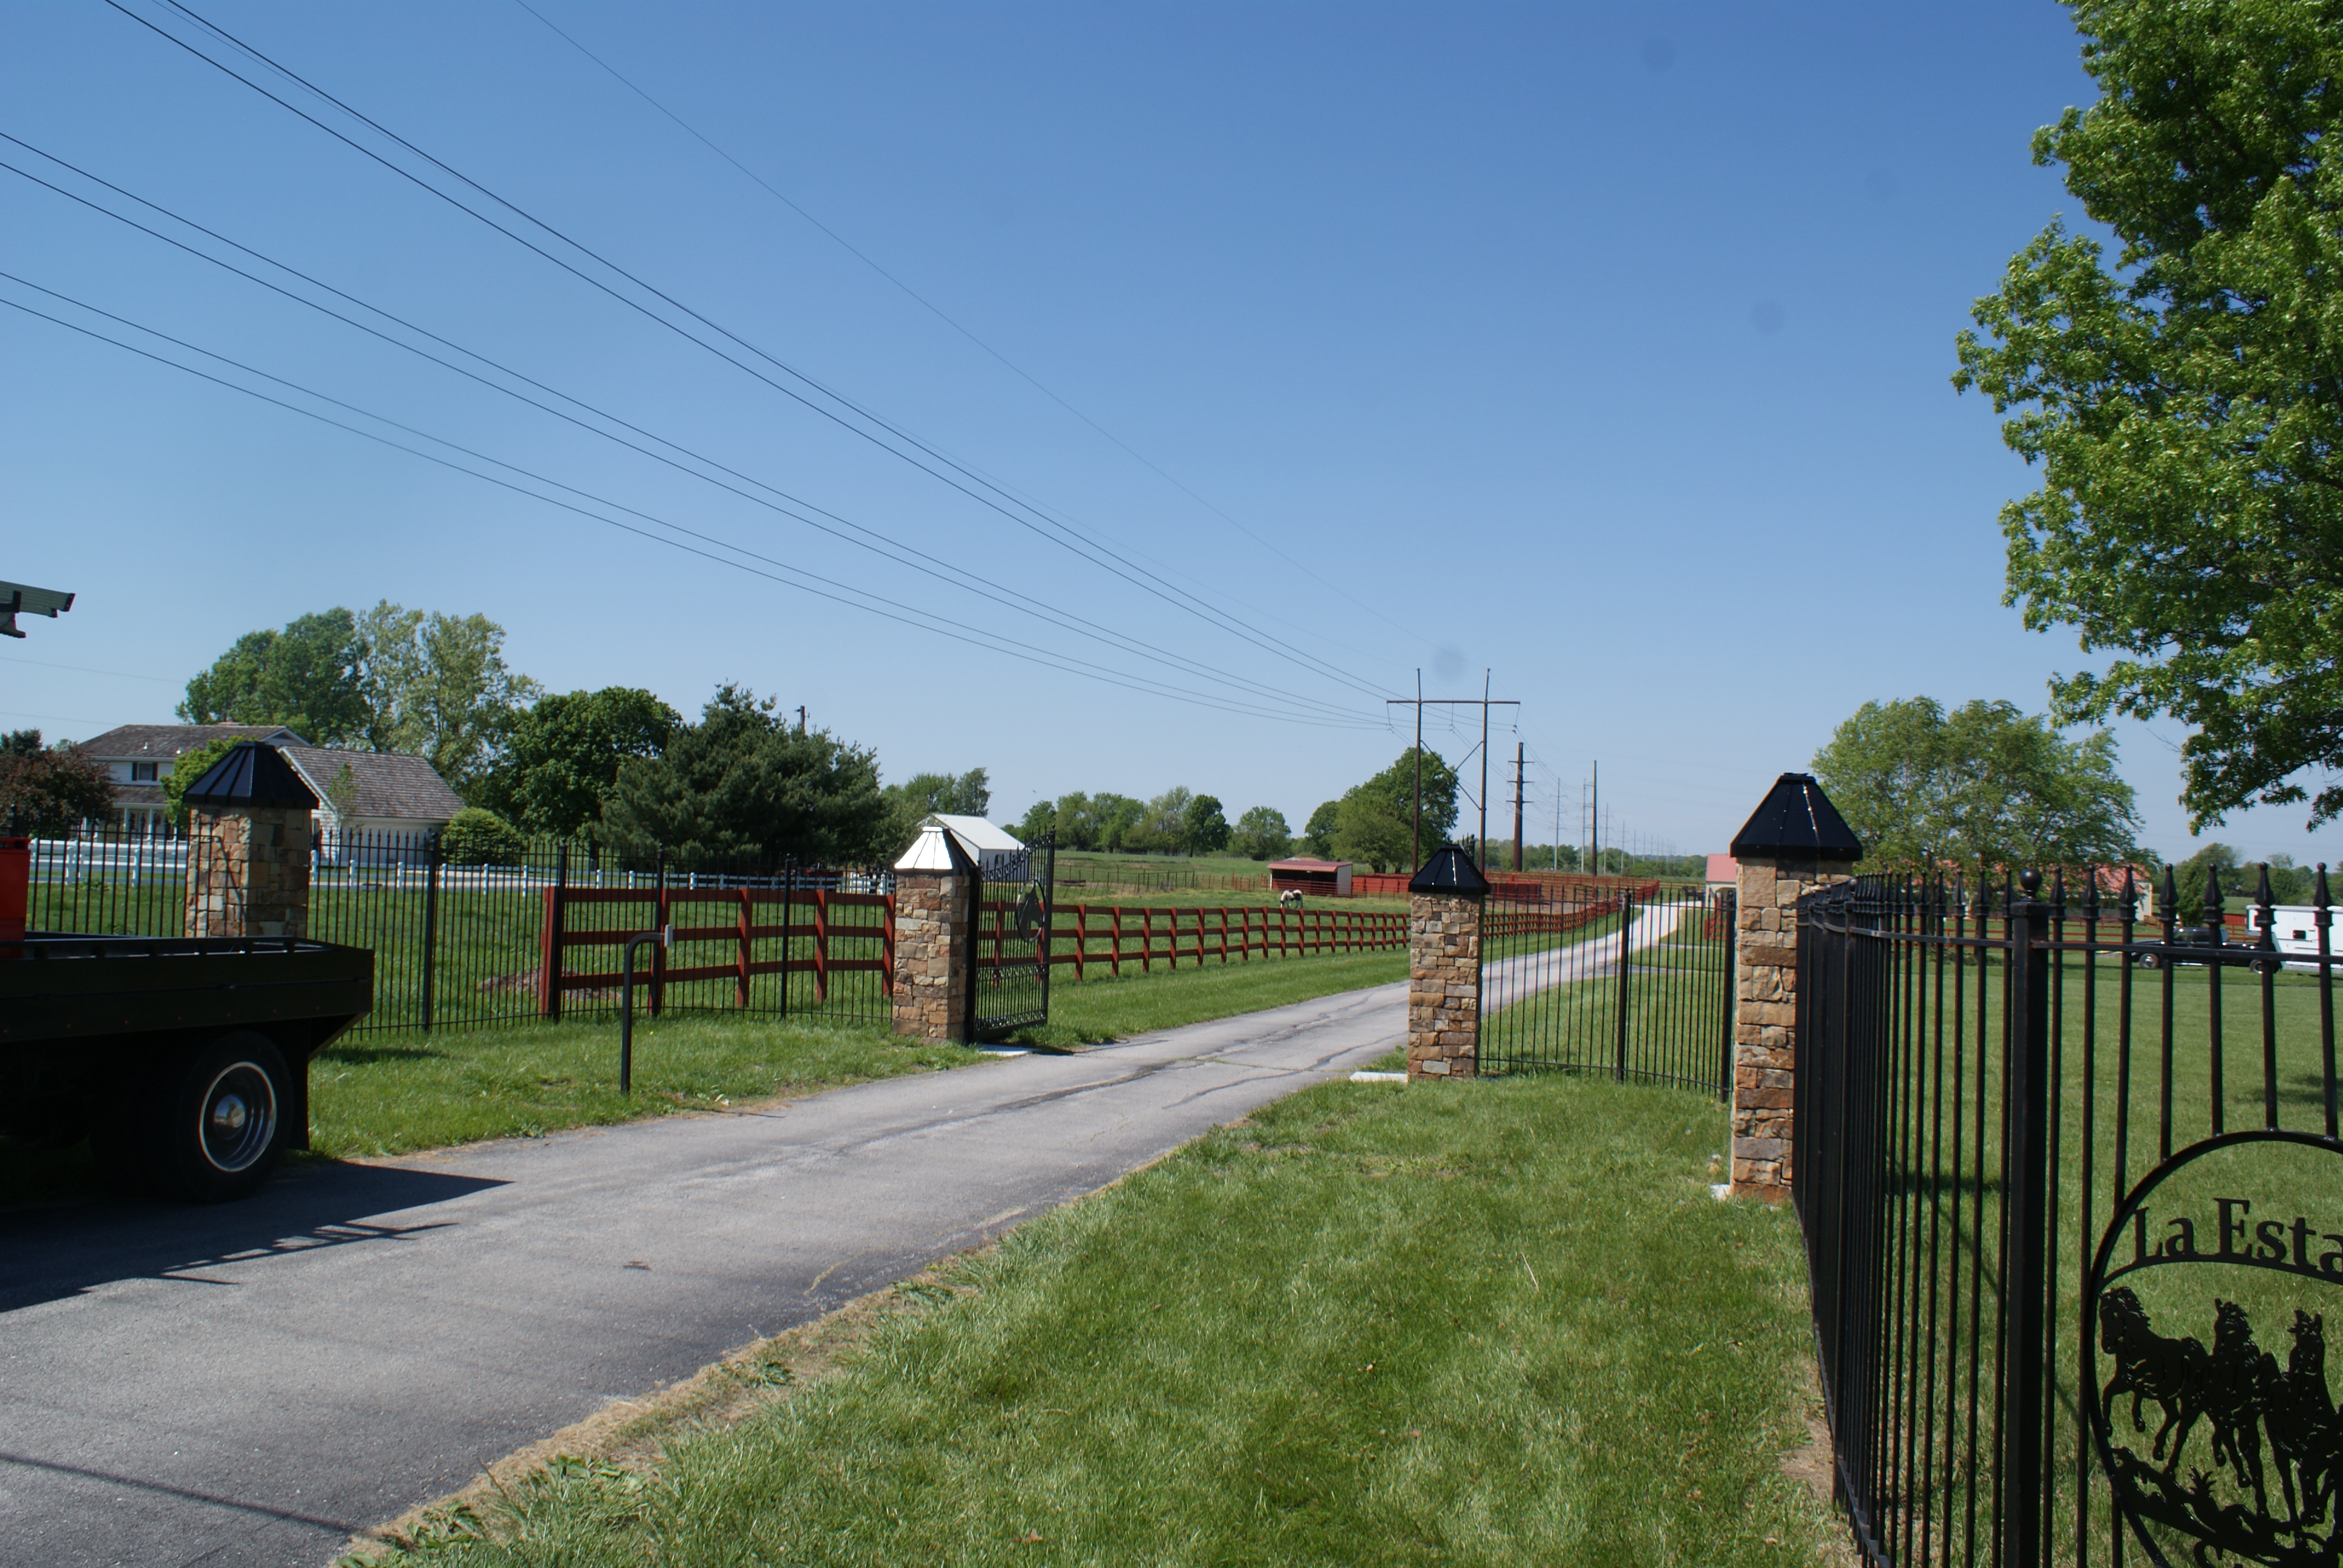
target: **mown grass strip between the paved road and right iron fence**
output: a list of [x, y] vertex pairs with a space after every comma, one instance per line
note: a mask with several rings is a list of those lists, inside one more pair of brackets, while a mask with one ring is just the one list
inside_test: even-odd
[[1783, 1467], [1797, 1226], [1708, 1195], [1722, 1146], [1680, 1090], [1305, 1090], [947, 1268], [834, 1376], [403, 1561], [1844, 1561]]

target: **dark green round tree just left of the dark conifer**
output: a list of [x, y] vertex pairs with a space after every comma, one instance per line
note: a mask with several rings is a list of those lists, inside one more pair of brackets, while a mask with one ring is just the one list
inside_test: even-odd
[[661, 755], [682, 722], [637, 687], [541, 696], [513, 715], [476, 797], [522, 832], [583, 832], [602, 820], [619, 764]]

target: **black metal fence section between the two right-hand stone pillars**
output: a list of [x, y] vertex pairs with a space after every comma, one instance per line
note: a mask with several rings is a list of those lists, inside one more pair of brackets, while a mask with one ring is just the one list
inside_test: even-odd
[[1724, 1095], [1734, 893], [1500, 884], [1481, 900], [1481, 1071], [1593, 1071]]

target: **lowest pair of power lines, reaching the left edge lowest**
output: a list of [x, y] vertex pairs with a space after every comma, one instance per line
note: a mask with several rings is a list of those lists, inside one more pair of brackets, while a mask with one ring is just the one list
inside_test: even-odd
[[[684, 551], [686, 555], [698, 555], [703, 560], [712, 560], [717, 565], [726, 565], [726, 567], [733, 567], [738, 572], [747, 572], [752, 577], [764, 577], [769, 581], [778, 581], [778, 584], [799, 588], [801, 593], [811, 593], [815, 598], [827, 598], [827, 600], [834, 600], [839, 605], [848, 605], [853, 609], [862, 609], [867, 614], [883, 616], [888, 621], [900, 621], [904, 626], [916, 626], [921, 630], [930, 630], [930, 633], [937, 633], [942, 638], [951, 638], [956, 642], [968, 642], [970, 647], [982, 647], [982, 649], [996, 652], [996, 654], [1010, 654], [1012, 659], [1024, 659], [1029, 663], [1040, 663], [1045, 668], [1064, 670], [1068, 675], [1082, 675], [1082, 677], [1099, 680], [1099, 682], [1106, 682], [1106, 684], [1113, 684], [1113, 687], [1125, 687], [1129, 691], [1146, 691], [1150, 696], [1169, 696], [1172, 701], [1186, 701], [1186, 703], [1195, 703], [1195, 705], [1202, 705], [1202, 708], [1216, 708], [1221, 713], [1242, 713], [1242, 715], [1249, 715], [1249, 717], [1268, 717], [1268, 720], [1282, 720], [1282, 722], [1296, 722], [1296, 724], [1340, 727], [1340, 724], [1333, 724], [1331, 720], [1314, 720], [1314, 717], [1293, 715], [1293, 713], [1272, 713], [1272, 710], [1263, 710], [1263, 708], [1256, 708], [1256, 705], [1230, 703], [1230, 701], [1214, 698], [1211, 694], [1190, 691], [1186, 687], [1172, 687], [1172, 684], [1153, 680], [1148, 675], [1134, 675], [1129, 670], [1104, 670], [1099, 666], [1075, 663], [1075, 661], [1061, 659], [1061, 656], [1057, 656], [1052, 652], [1040, 652], [1040, 649], [1031, 649], [1031, 647], [1019, 647], [1019, 645], [1000, 642], [991, 633], [984, 633], [982, 628], [968, 626], [965, 621], [954, 621], [954, 619], [940, 616], [940, 614], [935, 614], [930, 609], [918, 609], [916, 605], [904, 605], [900, 600], [888, 600], [883, 595], [869, 593], [867, 588], [855, 588], [853, 584], [843, 584], [843, 581], [836, 581], [832, 577], [822, 577], [818, 572], [806, 572], [804, 567], [792, 567], [787, 563], [780, 563], [780, 560], [773, 560], [769, 555], [759, 555], [754, 551], [736, 546], [736, 544], [731, 544], [726, 539], [717, 539], [712, 534], [703, 534], [698, 530], [682, 527], [679, 523], [668, 523], [668, 520], [656, 518], [651, 513], [644, 513], [644, 511], [637, 511], [633, 506], [623, 506], [623, 504], [612, 502], [607, 497], [593, 495], [588, 490], [579, 490], [574, 485], [565, 485], [565, 483], [560, 483], [555, 478], [548, 478], [544, 473], [534, 473], [534, 471], [522, 469], [518, 464], [508, 464], [508, 462], [501, 462], [497, 457], [487, 457], [485, 452], [476, 452], [476, 450], [464, 448], [464, 445], [459, 445], [455, 441], [445, 441], [440, 436], [431, 436], [429, 431], [419, 431], [419, 429], [415, 429], [410, 424], [401, 424], [401, 422], [389, 420], [384, 415], [375, 415], [370, 410], [356, 408], [356, 405], [344, 403], [340, 398], [333, 398], [333, 396], [328, 396], [323, 391], [314, 391], [309, 387], [300, 387], [298, 382], [288, 382], [284, 377], [269, 375], [267, 370], [258, 370], [258, 368], [246, 366], [241, 361], [227, 359], [225, 354], [213, 354], [211, 349], [201, 349], [197, 345], [183, 342], [178, 338], [171, 338], [169, 333], [157, 333], [152, 328], [138, 326], [136, 321], [127, 321], [127, 319], [115, 316], [110, 312], [96, 309], [91, 305], [73, 300], [70, 295], [61, 295], [61, 293], [56, 293], [52, 288], [42, 288], [40, 284], [30, 284], [26, 279], [16, 279], [14, 274], [0, 272], [0, 279], [21, 284], [26, 288], [37, 288], [40, 293], [47, 293], [47, 295], [59, 298], [59, 300], [68, 300], [70, 305], [75, 305], [80, 309], [87, 309], [87, 312], [91, 312], [96, 316], [105, 316], [108, 321], [119, 321], [122, 326], [129, 326], [129, 328], [141, 330], [141, 333], [148, 333], [150, 338], [157, 338], [162, 342], [171, 342], [171, 345], [183, 347], [183, 349], [187, 349], [192, 354], [204, 354], [206, 359], [216, 359], [216, 361], [220, 361], [225, 366], [234, 366], [237, 370], [244, 370], [248, 375], [258, 375], [262, 380], [276, 382], [281, 387], [300, 391], [302, 396], [312, 396], [312, 398], [316, 398], [321, 403], [330, 403], [335, 408], [347, 408], [347, 410], [351, 410], [351, 413], [356, 413], [356, 415], [361, 415], [366, 420], [377, 420], [380, 424], [408, 431], [408, 434], [412, 434], [412, 436], [417, 436], [422, 441], [431, 441], [436, 445], [445, 445], [452, 452], [464, 452], [466, 457], [476, 457], [478, 462], [494, 464], [499, 469], [506, 469], [506, 471], [518, 473], [522, 478], [530, 478], [534, 483], [551, 485], [555, 490], [565, 490], [565, 492], [576, 495], [581, 499], [588, 499], [588, 502], [593, 502], [597, 506], [607, 506], [612, 511], [621, 511], [621, 513], [642, 518], [642, 520], [647, 520], [647, 523], [651, 523], [656, 527], [670, 530], [672, 534], [682, 534], [684, 539], [698, 539], [705, 546], [715, 546], [715, 548], [698, 548], [694, 544], [684, 544], [682, 539], [670, 539], [670, 537], [656, 534], [651, 530], [635, 527], [630, 523], [621, 523], [619, 518], [607, 518], [607, 516], [597, 513], [597, 511], [588, 511], [586, 506], [579, 506], [574, 502], [562, 502], [560, 497], [541, 495], [541, 492], [530, 490], [525, 485], [518, 485], [513, 480], [497, 478], [494, 473], [480, 473], [478, 469], [471, 469], [466, 464], [452, 462], [452, 459], [440, 457], [436, 452], [424, 452], [419, 448], [405, 445], [403, 441], [391, 441], [389, 436], [361, 429], [356, 424], [347, 424], [347, 422], [335, 420], [330, 415], [321, 415], [314, 408], [302, 408], [298, 403], [288, 403], [284, 398], [274, 398], [274, 396], [269, 396], [265, 391], [255, 391], [253, 387], [241, 387], [241, 384], [237, 384], [237, 382], [232, 382], [227, 377], [211, 375], [209, 370], [199, 370], [194, 366], [185, 366], [185, 363], [180, 363], [180, 361], [176, 361], [176, 359], [171, 359], [166, 354], [155, 354], [150, 349], [141, 349], [138, 345], [122, 342], [119, 338], [110, 338], [110, 335], [98, 333], [94, 328], [80, 326], [75, 321], [66, 321], [63, 316], [52, 316], [49, 312], [42, 312], [42, 309], [35, 309], [30, 305], [23, 305], [21, 300], [9, 300], [9, 298], [0, 295], [0, 305], [7, 305], [9, 309], [23, 312], [28, 316], [37, 316], [40, 321], [49, 321], [49, 323], [61, 326], [61, 328], [66, 328], [70, 333], [80, 333], [84, 338], [94, 338], [98, 342], [108, 342], [108, 345], [112, 345], [117, 349], [124, 349], [129, 354], [138, 354], [141, 359], [155, 361], [159, 366], [169, 366], [169, 368], [180, 370], [185, 375], [192, 375], [197, 380], [213, 382], [216, 387], [225, 387], [230, 391], [241, 391], [248, 398], [258, 398], [262, 403], [272, 403], [276, 408], [284, 408], [288, 413], [302, 415], [307, 420], [316, 420], [319, 424], [330, 424], [335, 429], [349, 431], [351, 436], [361, 436], [361, 438], [373, 441], [377, 445], [387, 445], [391, 450], [408, 452], [410, 457], [422, 457], [424, 462], [438, 464], [443, 469], [452, 469], [457, 473], [469, 473], [471, 478], [478, 478], [483, 483], [497, 485], [501, 490], [511, 490], [515, 495], [525, 495], [525, 497], [530, 497], [534, 502], [544, 502], [546, 506], [558, 506], [562, 511], [572, 511], [572, 513], [576, 513], [581, 518], [590, 518], [590, 520], [602, 523], [607, 527], [616, 527], [621, 532], [649, 539], [654, 544], [665, 544], [668, 548]], [[743, 560], [733, 560], [731, 555], [719, 555], [717, 551], [731, 551], [733, 555], [745, 555], [750, 563], [764, 563], [764, 567], [773, 567], [773, 570], [761, 570], [757, 565], [747, 565]], [[808, 584], [822, 584], [822, 586], [815, 588], [815, 586], [808, 586]], [[848, 598], [848, 595], [853, 595], [853, 598]], [[1366, 729], [1366, 727], [1371, 727], [1371, 724], [1366, 724], [1366, 722], [1352, 724], [1352, 729]]]

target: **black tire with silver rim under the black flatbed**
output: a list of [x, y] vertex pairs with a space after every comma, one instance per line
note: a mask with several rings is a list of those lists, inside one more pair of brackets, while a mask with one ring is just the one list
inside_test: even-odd
[[227, 1202], [276, 1170], [286, 1148], [291, 1073], [274, 1041], [237, 1029], [166, 1069], [150, 1172], [169, 1198]]

